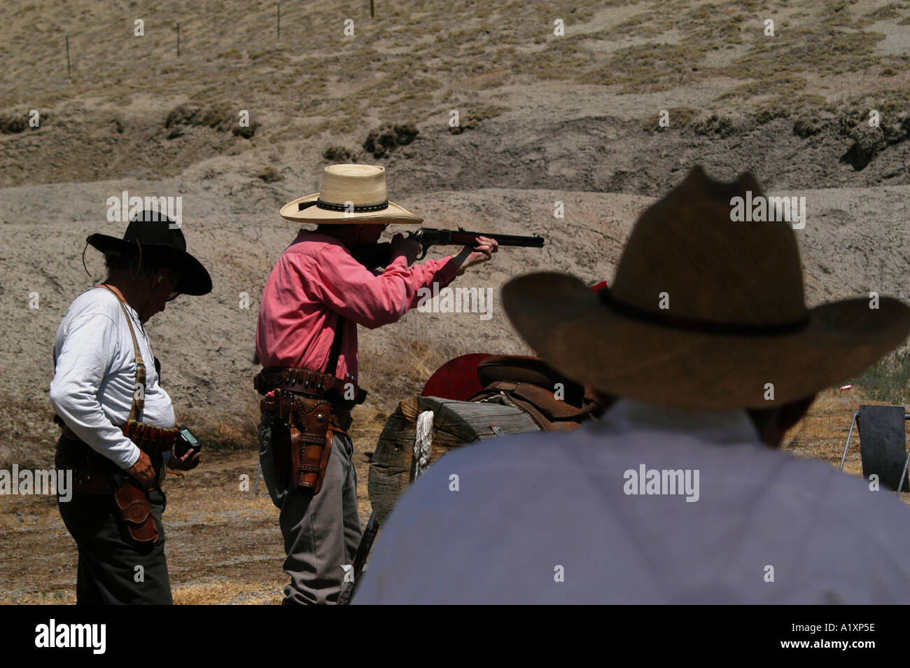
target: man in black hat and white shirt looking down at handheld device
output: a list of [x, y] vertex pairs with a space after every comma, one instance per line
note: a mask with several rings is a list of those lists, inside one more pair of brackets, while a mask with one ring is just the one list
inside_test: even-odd
[[174, 409], [145, 323], [180, 293], [206, 294], [211, 279], [182, 231], [155, 212], [137, 215], [122, 239], [95, 234], [87, 243], [104, 252], [109, 276], [66, 311], [50, 388], [63, 428], [58, 468], [74, 471], [76, 492], [59, 505], [79, 549], [76, 598], [170, 603], [160, 481], [166, 462], [187, 470], [199, 454], [170, 456]]

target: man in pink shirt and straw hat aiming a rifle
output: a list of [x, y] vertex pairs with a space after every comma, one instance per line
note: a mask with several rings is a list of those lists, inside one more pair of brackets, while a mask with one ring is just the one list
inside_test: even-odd
[[375, 244], [391, 223], [422, 218], [389, 202], [385, 169], [326, 167], [322, 190], [281, 208], [301, 229], [266, 282], [256, 331], [265, 395], [259, 459], [279, 524], [291, 576], [284, 603], [337, 602], [343, 566], [360, 540], [350, 410], [366, 398], [357, 368], [357, 325], [375, 329], [417, 306], [420, 288], [443, 288], [465, 268], [491, 258], [497, 243], [411, 267], [417, 241], [397, 234], [391, 259], [377, 274], [351, 255]]

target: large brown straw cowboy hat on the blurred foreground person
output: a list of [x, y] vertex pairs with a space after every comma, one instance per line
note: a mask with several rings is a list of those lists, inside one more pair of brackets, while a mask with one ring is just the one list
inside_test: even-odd
[[693, 409], [808, 398], [906, 339], [910, 308], [897, 299], [882, 297], [878, 309], [866, 298], [806, 309], [791, 225], [731, 221], [731, 197], [746, 190], [762, 195], [751, 174], [728, 184], [694, 167], [642, 213], [609, 289], [529, 274], [502, 288], [503, 308], [565, 375], [606, 394]]

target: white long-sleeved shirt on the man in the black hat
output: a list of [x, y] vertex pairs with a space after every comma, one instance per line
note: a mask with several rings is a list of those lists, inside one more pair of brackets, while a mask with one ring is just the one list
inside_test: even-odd
[[[136, 310], [126, 306], [146, 363], [146, 405], [141, 419], [174, 426], [174, 409], [158, 385], [154, 356]], [[128, 469], [139, 449], [120, 431], [133, 401], [136, 354], [126, 316], [106, 288], [91, 288], [70, 305], [57, 329], [50, 400], [66, 426], [94, 450]]]

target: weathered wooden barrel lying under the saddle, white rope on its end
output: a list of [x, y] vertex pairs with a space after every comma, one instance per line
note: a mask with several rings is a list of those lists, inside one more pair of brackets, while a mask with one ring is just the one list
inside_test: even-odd
[[540, 430], [526, 412], [500, 403], [440, 397], [411, 397], [399, 402], [379, 434], [369, 467], [369, 502], [380, 526], [414, 480], [417, 419], [425, 410], [433, 411], [430, 466], [452, 448], [475, 440]]

